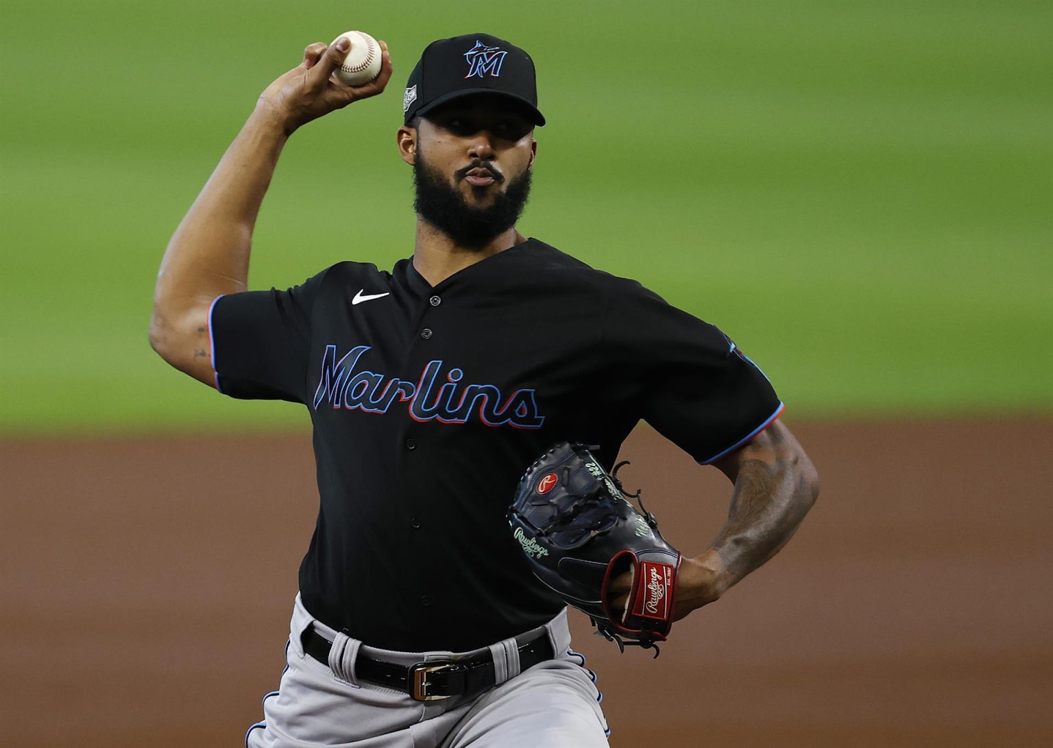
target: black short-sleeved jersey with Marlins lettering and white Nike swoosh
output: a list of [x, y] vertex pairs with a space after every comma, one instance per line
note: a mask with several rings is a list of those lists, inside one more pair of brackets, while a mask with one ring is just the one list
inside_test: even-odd
[[782, 409], [719, 329], [536, 239], [434, 287], [411, 259], [342, 262], [220, 297], [210, 329], [220, 391], [311, 413], [304, 605], [386, 649], [473, 649], [559, 612], [505, 519], [554, 443], [610, 468], [644, 419], [707, 463]]

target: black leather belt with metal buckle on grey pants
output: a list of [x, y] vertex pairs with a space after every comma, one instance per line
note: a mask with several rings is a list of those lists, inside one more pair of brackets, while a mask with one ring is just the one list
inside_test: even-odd
[[[329, 665], [333, 643], [309, 626], [301, 636], [303, 651], [323, 665]], [[533, 667], [555, 653], [545, 631], [519, 645], [519, 670]], [[361, 652], [355, 660], [355, 674], [362, 681], [377, 686], [405, 691], [418, 702], [431, 702], [461, 694], [476, 694], [486, 690], [497, 681], [491, 655], [481, 654], [472, 660], [430, 660], [405, 666], [374, 660]]]

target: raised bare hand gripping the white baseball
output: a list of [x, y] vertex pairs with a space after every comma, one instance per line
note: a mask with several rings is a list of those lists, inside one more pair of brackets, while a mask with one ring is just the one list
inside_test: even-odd
[[311, 120], [383, 92], [392, 77], [388, 44], [380, 42], [380, 75], [360, 86], [349, 86], [334, 75], [347, 53], [347, 44], [344, 37], [332, 45], [310, 44], [303, 50], [303, 62], [275, 80], [260, 95], [257, 109], [277, 117], [285, 133], [292, 134]]

